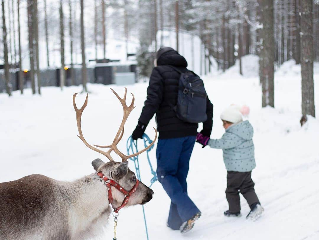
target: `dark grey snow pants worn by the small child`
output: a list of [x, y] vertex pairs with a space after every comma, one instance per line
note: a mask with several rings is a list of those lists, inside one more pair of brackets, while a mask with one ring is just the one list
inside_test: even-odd
[[254, 189], [255, 183], [251, 179], [250, 172], [227, 172], [227, 188], [226, 199], [229, 204], [229, 212], [240, 212], [240, 198], [241, 193], [249, 204], [249, 207], [254, 203], [259, 203], [258, 197]]

